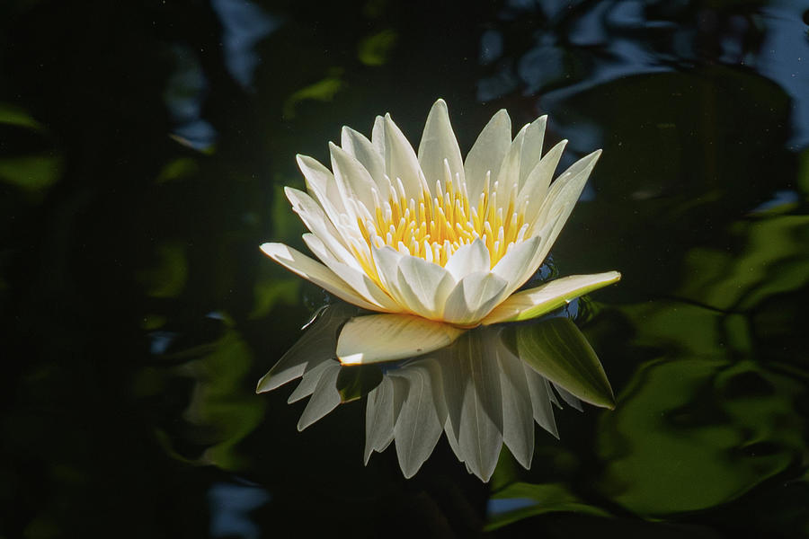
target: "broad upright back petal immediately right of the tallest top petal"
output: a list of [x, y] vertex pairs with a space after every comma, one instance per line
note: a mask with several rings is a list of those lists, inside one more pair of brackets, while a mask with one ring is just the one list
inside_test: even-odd
[[497, 178], [509, 146], [511, 146], [511, 119], [509, 113], [502, 109], [497, 111], [480, 132], [464, 162], [470, 200], [476, 200], [483, 191], [486, 172], [492, 172], [492, 181]]

